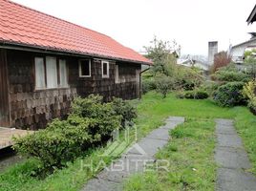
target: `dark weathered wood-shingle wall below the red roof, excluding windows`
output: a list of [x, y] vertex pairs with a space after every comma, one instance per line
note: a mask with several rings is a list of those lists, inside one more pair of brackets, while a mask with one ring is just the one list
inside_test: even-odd
[[[44, 128], [53, 118], [67, 116], [75, 96], [98, 94], [104, 96], [105, 101], [111, 100], [113, 96], [124, 99], [139, 97], [139, 64], [110, 61], [109, 78], [102, 78], [101, 61], [92, 59], [92, 76], [79, 77], [80, 58], [71, 56], [60, 57], [66, 59], [69, 88], [35, 91], [34, 57], [46, 55], [7, 51], [11, 127], [32, 130]], [[119, 68], [120, 83], [115, 83], [116, 64]]]

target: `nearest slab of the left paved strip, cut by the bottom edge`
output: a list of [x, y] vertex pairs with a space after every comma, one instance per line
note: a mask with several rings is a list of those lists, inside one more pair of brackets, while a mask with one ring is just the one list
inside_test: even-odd
[[83, 191], [121, 191], [121, 184], [108, 181], [108, 180], [99, 180], [92, 179], [89, 180], [86, 186], [83, 188]]

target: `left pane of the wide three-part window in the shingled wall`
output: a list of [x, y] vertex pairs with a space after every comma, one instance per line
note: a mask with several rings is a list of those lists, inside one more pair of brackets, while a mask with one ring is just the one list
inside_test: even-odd
[[35, 68], [35, 89], [45, 88], [44, 58], [35, 57], [34, 68]]

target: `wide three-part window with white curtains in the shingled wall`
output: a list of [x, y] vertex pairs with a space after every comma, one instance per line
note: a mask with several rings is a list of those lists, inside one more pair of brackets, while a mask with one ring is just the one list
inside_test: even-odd
[[68, 74], [66, 60], [47, 56], [34, 58], [35, 90], [66, 88], [68, 87]]

